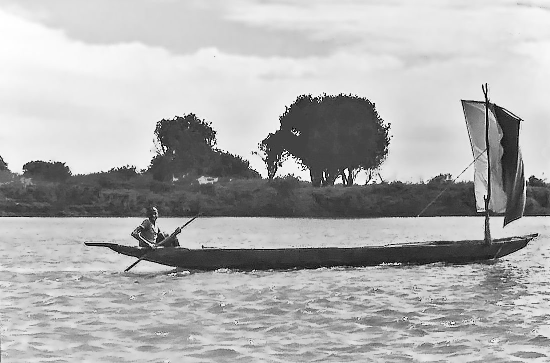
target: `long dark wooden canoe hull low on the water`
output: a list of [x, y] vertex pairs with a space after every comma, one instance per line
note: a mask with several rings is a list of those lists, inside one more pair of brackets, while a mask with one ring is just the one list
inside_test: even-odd
[[488, 245], [477, 241], [434, 241], [354, 248], [201, 248], [160, 247], [155, 251], [115, 243], [86, 242], [127, 256], [185, 269], [241, 270], [293, 269], [319, 267], [366, 267], [379, 264], [428, 264], [435, 262], [471, 263], [497, 259], [525, 247], [538, 234], [494, 240]]

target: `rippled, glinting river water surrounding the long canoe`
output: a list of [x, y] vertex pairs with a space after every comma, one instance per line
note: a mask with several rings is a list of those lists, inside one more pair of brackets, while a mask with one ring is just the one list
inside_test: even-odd
[[[142, 262], [122, 273], [133, 258], [82, 242], [133, 243], [139, 219], [2, 218], [2, 362], [546, 362], [550, 223], [520, 221], [505, 232], [541, 237], [496, 263], [195, 272]], [[184, 232], [188, 245], [366, 245], [482, 231], [475, 218], [197, 222]], [[162, 220], [166, 230], [179, 224]]]

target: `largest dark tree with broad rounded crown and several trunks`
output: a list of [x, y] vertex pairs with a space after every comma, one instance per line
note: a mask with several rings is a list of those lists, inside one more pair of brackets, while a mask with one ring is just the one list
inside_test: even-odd
[[373, 170], [388, 154], [389, 124], [364, 97], [301, 95], [279, 117], [273, 140], [310, 170], [314, 186], [342, 177], [351, 185], [361, 170]]

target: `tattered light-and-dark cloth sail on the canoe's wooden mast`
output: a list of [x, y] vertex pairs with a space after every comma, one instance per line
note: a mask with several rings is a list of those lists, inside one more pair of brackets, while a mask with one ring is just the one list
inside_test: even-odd
[[[485, 102], [462, 101], [474, 153], [474, 187], [478, 212], [485, 211], [487, 195], [487, 153], [485, 144]], [[504, 225], [521, 218], [525, 209], [525, 176], [519, 149], [520, 119], [489, 104], [489, 156], [491, 157], [491, 200], [489, 209], [504, 213]]]

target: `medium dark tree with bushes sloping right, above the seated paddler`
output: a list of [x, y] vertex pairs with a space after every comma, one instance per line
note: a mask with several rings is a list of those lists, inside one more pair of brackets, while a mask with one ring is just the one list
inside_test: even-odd
[[214, 177], [257, 177], [249, 162], [215, 148], [216, 131], [194, 113], [157, 122], [155, 129], [158, 154], [149, 172], [156, 180], [173, 175], [193, 174]]

